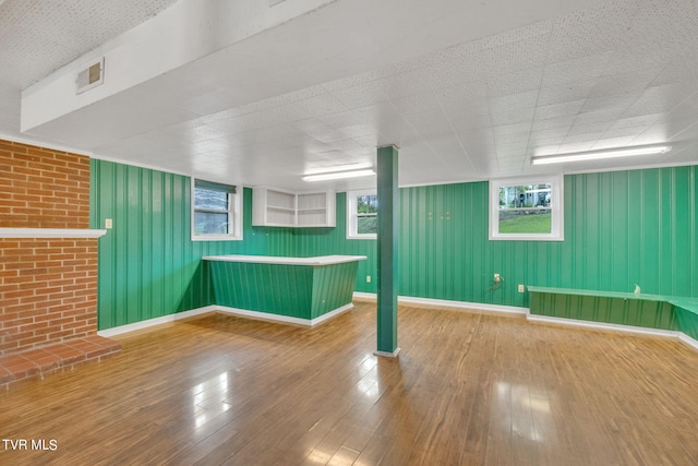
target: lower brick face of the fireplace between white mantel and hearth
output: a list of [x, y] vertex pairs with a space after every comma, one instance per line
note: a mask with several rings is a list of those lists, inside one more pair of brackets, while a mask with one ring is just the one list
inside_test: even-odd
[[0, 356], [97, 332], [97, 240], [0, 239]]

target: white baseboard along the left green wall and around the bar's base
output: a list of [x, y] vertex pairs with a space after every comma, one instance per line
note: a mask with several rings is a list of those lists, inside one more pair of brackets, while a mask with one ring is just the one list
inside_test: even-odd
[[110, 336], [117, 336], [117, 335], [121, 335], [129, 332], [135, 332], [139, 330], [148, 328], [155, 325], [166, 324], [166, 323], [174, 322], [181, 319], [193, 318], [196, 315], [207, 314], [209, 312], [217, 312], [217, 311], [225, 312], [227, 314], [241, 315], [241, 316], [246, 316], [252, 319], [313, 326], [313, 325], [321, 324], [326, 320], [329, 320], [336, 315], [339, 315], [342, 312], [347, 312], [352, 308], [353, 308], [353, 304], [348, 303], [340, 308], [332, 310], [327, 313], [324, 313], [323, 315], [315, 319], [299, 319], [299, 318], [290, 318], [287, 315], [269, 314], [267, 312], [257, 312], [257, 311], [248, 311], [245, 309], [228, 308], [225, 306], [206, 306], [203, 308], [192, 309], [190, 311], [178, 312], [176, 314], [163, 315], [160, 318], [148, 319], [146, 321], [135, 322], [132, 324], [120, 325], [120, 326], [107, 328], [107, 330], [100, 330], [99, 332], [97, 332], [97, 335], [108, 338]]

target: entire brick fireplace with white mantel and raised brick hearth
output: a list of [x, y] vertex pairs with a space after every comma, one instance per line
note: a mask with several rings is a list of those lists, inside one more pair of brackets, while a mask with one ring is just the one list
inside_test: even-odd
[[89, 157], [0, 140], [0, 391], [121, 351], [97, 335]]

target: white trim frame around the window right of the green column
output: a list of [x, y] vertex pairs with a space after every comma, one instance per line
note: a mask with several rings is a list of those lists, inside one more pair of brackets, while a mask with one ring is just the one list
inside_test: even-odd
[[[500, 232], [500, 188], [549, 183], [551, 186], [551, 232], [550, 234], [501, 234]], [[490, 240], [497, 241], [564, 241], [565, 214], [563, 207], [564, 186], [562, 175], [534, 176], [490, 180]]]

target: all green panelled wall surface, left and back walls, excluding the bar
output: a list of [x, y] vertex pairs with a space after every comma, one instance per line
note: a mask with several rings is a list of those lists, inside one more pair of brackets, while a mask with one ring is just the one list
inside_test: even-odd
[[[490, 241], [488, 182], [400, 189], [398, 292], [528, 307], [517, 285], [698, 297], [698, 167], [565, 177], [565, 241]], [[190, 240], [190, 179], [92, 160], [93, 228], [113, 218], [99, 243], [99, 328], [213, 302], [203, 255], [368, 255], [357, 291], [375, 292], [376, 242], [346, 239], [346, 196], [336, 228], [251, 226], [244, 240]], [[491, 290], [492, 276], [504, 284]], [[365, 282], [371, 275], [372, 283]]]

